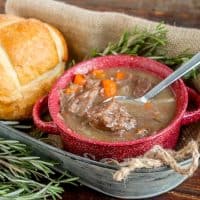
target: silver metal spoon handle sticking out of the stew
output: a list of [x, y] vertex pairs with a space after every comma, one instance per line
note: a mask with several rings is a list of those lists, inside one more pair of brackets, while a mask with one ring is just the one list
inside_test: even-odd
[[170, 84], [181, 78], [183, 75], [200, 65], [200, 52], [194, 55], [189, 61], [182, 64], [176, 71], [170, 74], [166, 79], [147, 92], [142, 98], [149, 100], [156, 96], [160, 91], [168, 87]]

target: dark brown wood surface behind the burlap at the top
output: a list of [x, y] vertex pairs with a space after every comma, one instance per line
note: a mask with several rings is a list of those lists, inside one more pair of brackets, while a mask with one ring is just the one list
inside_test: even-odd
[[100, 11], [116, 11], [155, 21], [200, 28], [198, 0], [60, 0], [79, 7]]

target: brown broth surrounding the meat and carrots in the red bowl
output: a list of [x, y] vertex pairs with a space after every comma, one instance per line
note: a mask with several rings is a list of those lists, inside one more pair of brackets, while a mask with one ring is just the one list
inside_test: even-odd
[[[146, 81], [150, 81], [153, 87], [161, 79], [155, 77], [152, 74], [124, 68], [112, 68], [106, 69], [105, 72], [108, 77], [115, 77], [116, 71], [121, 71], [126, 74], [126, 79], [119, 81], [117, 85], [117, 95], [132, 96], [132, 81], [130, 77], [140, 77]], [[127, 89], [127, 85], [130, 88]], [[104, 98], [99, 95], [94, 104], [99, 104]], [[92, 140], [98, 141], [131, 141], [138, 138], [146, 137], [148, 135], [154, 135], [159, 130], [165, 128], [173, 119], [176, 111], [176, 101], [173, 92], [170, 88], [166, 88], [160, 94], [158, 94], [151, 101], [151, 109], [147, 109], [145, 106], [137, 104], [125, 104], [128, 113], [133, 115], [137, 120], [137, 127], [126, 133], [114, 133], [111, 131], [105, 131], [90, 126], [86, 117], [79, 117], [70, 112], [63, 112], [61, 115], [64, 118], [65, 123], [78, 134]], [[147, 129], [147, 134], [138, 134], [139, 130]], [[136, 134], [137, 133], [137, 134]]]

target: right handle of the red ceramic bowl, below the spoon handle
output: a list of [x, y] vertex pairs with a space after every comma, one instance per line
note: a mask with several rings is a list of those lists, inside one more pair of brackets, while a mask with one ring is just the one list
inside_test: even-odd
[[189, 99], [191, 99], [196, 106], [194, 111], [187, 111], [182, 119], [182, 125], [191, 124], [200, 120], [200, 94], [191, 88], [187, 88]]

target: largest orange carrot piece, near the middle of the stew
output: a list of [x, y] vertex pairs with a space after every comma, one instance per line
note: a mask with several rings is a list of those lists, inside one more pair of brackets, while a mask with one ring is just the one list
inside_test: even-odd
[[117, 84], [115, 81], [110, 79], [105, 79], [102, 81], [102, 85], [104, 88], [104, 95], [106, 97], [112, 97], [115, 96], [117, 93]]

